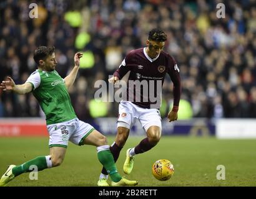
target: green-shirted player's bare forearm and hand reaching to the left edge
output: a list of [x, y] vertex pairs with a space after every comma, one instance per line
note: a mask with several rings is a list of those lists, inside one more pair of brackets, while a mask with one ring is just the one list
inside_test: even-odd
[[26, 94], [32, 91], [31, 83], [24, 83], [22, 85], [16, 85], [11, 77], [7, 76], [6, 81], [2, 81], [0, 88], [3, 91], [14, 91], [19, 95]]

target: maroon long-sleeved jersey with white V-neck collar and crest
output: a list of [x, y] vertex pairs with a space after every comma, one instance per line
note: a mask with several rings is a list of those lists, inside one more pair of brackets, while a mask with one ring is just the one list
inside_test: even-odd
[[145, 52], [145, 48], [132, 50], [114, 72], [114, 76], [121, 80], [129, 71], [126, 100], [142, 108], [159, 109], [162, 85], [165, 74], [168, 73], [174, 83], [174, 106], [179, 106], [181, 92], [179, 68], [169, 54], [161, 51], [158, 57], [152, 59]]

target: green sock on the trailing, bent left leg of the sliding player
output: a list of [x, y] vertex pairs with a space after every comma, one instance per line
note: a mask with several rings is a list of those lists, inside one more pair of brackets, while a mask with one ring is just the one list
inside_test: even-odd
[[39, 156], [39, 157], [36, 157], [35, 159], [25, 162], [22, 165], [13, 167], [12, 174], [16, 177], [17, 175], [21, 175], [26, 172], [31, 172], [31, 170], [29, 170], [29, 167], [31, 165], [36, 165], [38, 171], [46, 169], [47, 168], [46, 156]]

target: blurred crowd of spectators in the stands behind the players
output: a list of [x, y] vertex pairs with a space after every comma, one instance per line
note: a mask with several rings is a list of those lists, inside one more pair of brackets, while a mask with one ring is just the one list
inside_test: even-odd
[[[0, 80], [24, 83], [36, 70], [33, 53], [54, 45], [57, 72], [64, 77], [77, 51], [88, 52], [72, 87], [81, 120], [117, 116], [118, 103], [101, 104], [97, 114], [94, 83], [119, 67], [126, 53], [145, 46], [150, 29], [168, 35], [164, 50], [178, 63], [182, 99], [193, 117], [256, 118], [256, 1], [45, 0], [38, 18], [29, 17], [30, 1], [0, 2]], [[225, 18], [217, 18], [223, 2]], [[89, 53], [91, 52], [91, 53]], [[36, 99], [0, 90], [0, 117], [42, 116]], [[162, 116], [172, 103], [172, 82], [163, 87]], [[106, 110], [102, 111], [102, 107]]]

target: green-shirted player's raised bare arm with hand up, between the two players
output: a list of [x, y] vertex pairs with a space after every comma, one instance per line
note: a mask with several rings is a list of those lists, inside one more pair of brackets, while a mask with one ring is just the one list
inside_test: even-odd
[[77, 76], [77, 72], [79, 70], [80, 67], [80, 58], [82, 57], [82, 53], [77, 52], [74, 55], [74, 63], [75, 66], [74, 68], [71, 70], [71, 73], [69, 73], [69, 75], [67, 75], [64, 80], [65, 80], [65, 84], [67, 87], [67, 90], [69, 90], [69, 87], [73, 85], [74, 81], [76, 80], [76, 76]]

